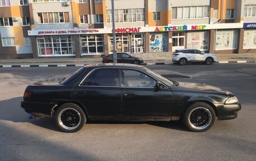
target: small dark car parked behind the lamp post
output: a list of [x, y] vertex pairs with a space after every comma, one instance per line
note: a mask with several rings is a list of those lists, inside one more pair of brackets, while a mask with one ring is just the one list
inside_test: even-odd
[[[117, 63], [132, 63], [135, 65], [140, 65], [143, 63], [142, 58], [132, 57], [127, 53], [116, 53]], [[113, 63], [113, 54], [103, 57], [102, 63]]]

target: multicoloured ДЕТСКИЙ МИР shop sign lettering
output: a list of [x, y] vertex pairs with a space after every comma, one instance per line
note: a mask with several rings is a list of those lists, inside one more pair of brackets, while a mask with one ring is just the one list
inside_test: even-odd
[[204, 30], [206, 25], [192, 25], [191, 28], [188, 28], [188, 25], [183, 26], [164, 26], [164, 27], [156, 27], [155, 32], [159, 31], [182, 31], [182, 30]]

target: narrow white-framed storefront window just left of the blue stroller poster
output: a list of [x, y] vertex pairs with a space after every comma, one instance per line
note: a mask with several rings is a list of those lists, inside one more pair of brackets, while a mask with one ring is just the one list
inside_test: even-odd
[[143, 53], [144, 50], [144, 34], [132, 34], [132, 53]]

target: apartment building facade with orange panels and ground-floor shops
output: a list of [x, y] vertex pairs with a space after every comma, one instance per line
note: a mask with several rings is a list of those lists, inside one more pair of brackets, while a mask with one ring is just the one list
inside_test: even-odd
[[[0, 58], [113, 52], [111, 0], [0, 0]], [[255, 0], [115, 1], [116, 50], [256, 53]]]

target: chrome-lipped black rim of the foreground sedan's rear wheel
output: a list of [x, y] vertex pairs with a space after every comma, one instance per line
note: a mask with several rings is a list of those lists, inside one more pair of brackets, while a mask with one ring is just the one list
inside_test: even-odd
[[80, 113], [74, 108], [62, 109], [58, 115], [58, 122], [66, 130], [74, 130], [81, 123]]

